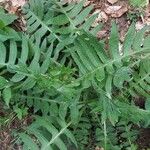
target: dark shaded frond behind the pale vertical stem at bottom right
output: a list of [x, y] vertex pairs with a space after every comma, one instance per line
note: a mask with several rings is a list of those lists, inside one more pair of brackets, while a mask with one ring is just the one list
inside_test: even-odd
[[[107, 149], [130, 148], [138, 136], [138, 131], [132, 127], [132, 124], [123, 120], [120, 120], [115, 127], [107, 122], [106, 132]], [[96, 140], [99, 146], [104, 147], [104, 129], [100, 125], [96, 129]]]

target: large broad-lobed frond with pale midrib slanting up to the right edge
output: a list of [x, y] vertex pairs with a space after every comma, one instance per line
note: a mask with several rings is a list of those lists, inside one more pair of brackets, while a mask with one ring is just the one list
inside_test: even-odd
[[145, 27], [132, 36], [135, 31], [131, 25], [123, 47], [119, 49], [117, 26], [113, 23], [108, 50], [93, 36], [85, 32], [78, 35], [70, 51], [79, 68], [78, 80], [101, 84], [108, 95], [111, 95], [113, 84], [123, 88], [125, 82], [132, 80], [136, 64], [149, 56], [148, 31], [149, 27]]

